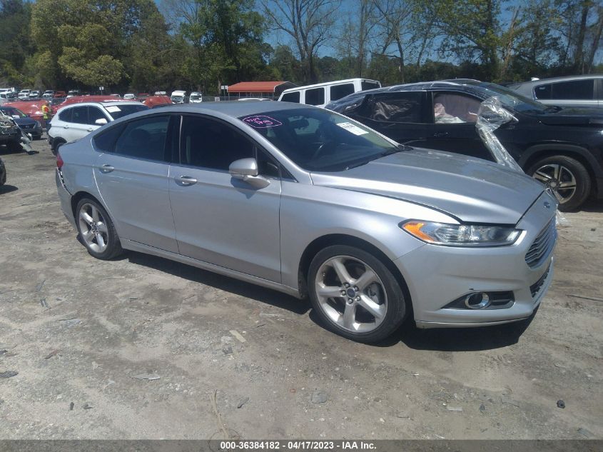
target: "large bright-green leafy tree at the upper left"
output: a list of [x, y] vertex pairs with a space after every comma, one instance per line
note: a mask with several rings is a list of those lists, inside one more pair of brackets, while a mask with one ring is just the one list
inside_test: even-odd
[[[38, 49], [33, 64], [54, 86], [125, 86], [131, 79], [126, 69], [140, 68], [140, 61], [129, 64], [133, 44], [149, 42], [151, 30], [167, 34], [158, 23], [161, 15], [152, 0], [38, 0], [31, 13]], [[134, 58], [148, 54], [147, 46]], [[52, 70], [51, 61], [57, 63]]]

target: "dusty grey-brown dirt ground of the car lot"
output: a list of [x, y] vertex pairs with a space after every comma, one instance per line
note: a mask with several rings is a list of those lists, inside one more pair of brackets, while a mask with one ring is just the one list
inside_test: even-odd
[[567, 214], [531, 323], [366, 346], [275, 291], [93, 259], [34, 149], [0, 148], [0, 438], [221, 438], [216, 410], [240, 438], [603, 438], [603, 203]]

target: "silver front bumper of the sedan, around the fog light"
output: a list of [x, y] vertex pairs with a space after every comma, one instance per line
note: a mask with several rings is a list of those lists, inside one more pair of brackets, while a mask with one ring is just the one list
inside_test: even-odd
[[[551, 207], [545, 207], [544, 201]], [[528, 266], [525, 256], [542, 229], [554, 221], [553, 206], [554, 200], [543, 193], [517, 224], [524, 232], [512, 246], [457, 248], [427, 244], [398, 258], [395, 265], [405, 277], [417, 326], [487, 326], [531, 316], [552, 282], [554, 246], [537, 266]], [[515, 301], [505, 308], [447, 307], [475, 292], [512, 292]]]

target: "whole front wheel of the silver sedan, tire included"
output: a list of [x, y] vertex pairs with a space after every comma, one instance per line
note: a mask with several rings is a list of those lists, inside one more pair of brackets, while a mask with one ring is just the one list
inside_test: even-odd
[[382, 341], [406, 315], [402, 289], [387, 266], [353, 246], [320, 251], [310, 263], [308, 289], [320, 321], [353, 341]]

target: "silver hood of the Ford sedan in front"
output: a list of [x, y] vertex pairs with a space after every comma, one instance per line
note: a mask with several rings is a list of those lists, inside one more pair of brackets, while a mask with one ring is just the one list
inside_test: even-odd
[[311, 177], [315, 185], [422, 204], [465, 223], [515, 225], [544, 191], [539, 182], [499, 164], [416, 148]]

